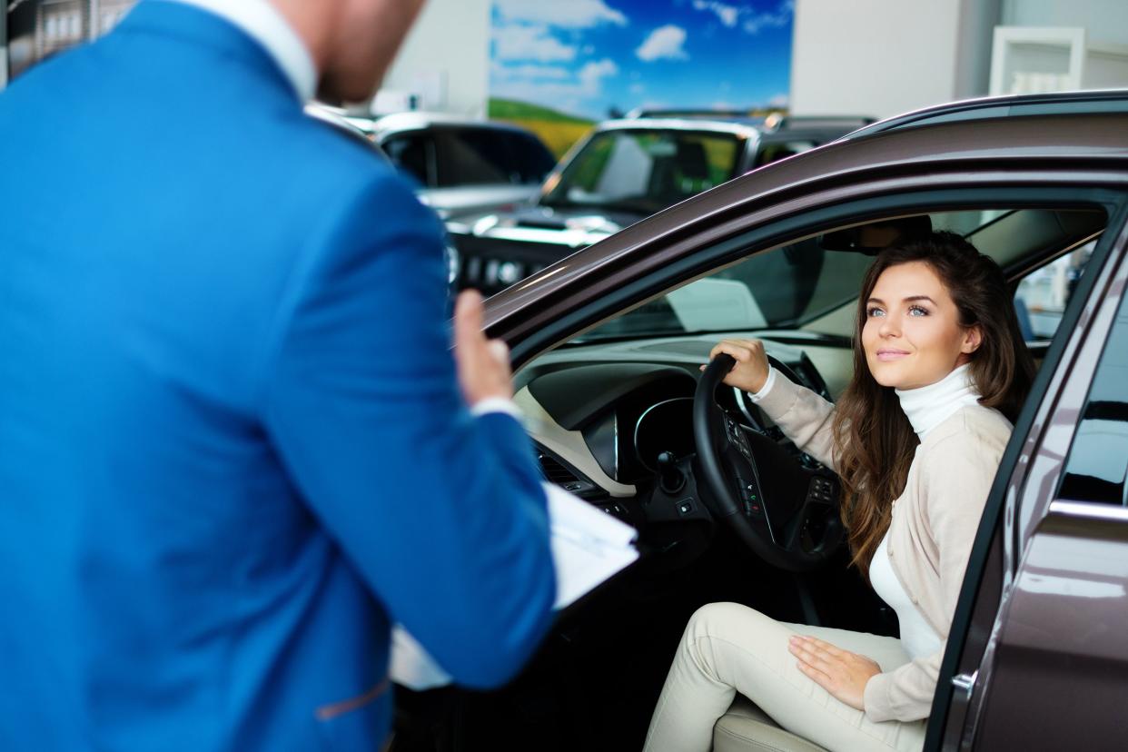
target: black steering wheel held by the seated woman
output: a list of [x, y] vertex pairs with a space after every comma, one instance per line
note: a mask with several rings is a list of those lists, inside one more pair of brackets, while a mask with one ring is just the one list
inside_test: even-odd
[[[781, 372], [791, 369], [768, 359]], [[714, 516], [768, 564], [807, 572], [825, 564], [841, 546], [838, 479], [800, 465], [759, 432], [746, 432], [741, 416], [716, 401], [716, 390], [735, 361], [720, 354], [706, 366], [694, 395], [697, 459], [712, 493]]]

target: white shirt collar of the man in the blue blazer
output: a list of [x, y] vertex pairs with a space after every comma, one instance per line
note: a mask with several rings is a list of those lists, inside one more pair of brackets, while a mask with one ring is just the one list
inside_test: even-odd
[[258, 42], [279, 64], [301, 101], [314, 98], [317, 69], [306, 43], [267, 0], [166, 0], [215, 14]]

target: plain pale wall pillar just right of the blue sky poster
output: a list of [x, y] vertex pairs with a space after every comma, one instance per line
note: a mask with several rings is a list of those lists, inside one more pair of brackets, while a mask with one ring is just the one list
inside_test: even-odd
[[797, 0], [797, 115], [888, 117], [986, 94], [999, 0]]

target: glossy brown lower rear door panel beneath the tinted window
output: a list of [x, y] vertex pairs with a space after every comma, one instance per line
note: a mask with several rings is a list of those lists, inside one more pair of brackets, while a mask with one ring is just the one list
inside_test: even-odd
[[1128, 722], [1109, 732], [1128, 704], [1128, 515], [1104, 512], [1055, 504], [1031, 537], [977, 681], [976, 749], [1123, 749]]

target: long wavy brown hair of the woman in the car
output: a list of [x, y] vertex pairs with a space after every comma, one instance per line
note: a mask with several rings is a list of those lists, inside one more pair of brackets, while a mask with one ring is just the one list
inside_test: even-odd
[[878, 254], [862, 283], [854, 324], [854, 379], [835, 410], [835, 450], [844, 487], [843, 522], [853, 564], [869, 576], [870, 560], [889, 529], [893, 499], [905, 492], [919, 440], [892, 387], [870, 373], [862, 346], [866, 301], [881, 273], [891, 266], [924, 262], [955, 302], [961, 327], [978, 326], [979, 347], [970, 373], [981, 395], [1012, 423], [1030, 390], [1034, 363], [1019, 333], [1019, 320], [1003, 271], [988, 256], [952, 232], [934, 232]]

